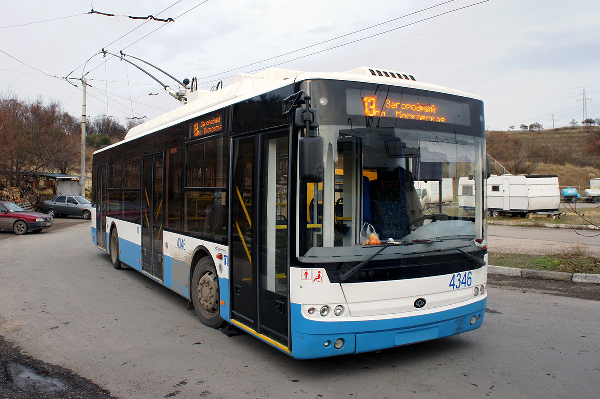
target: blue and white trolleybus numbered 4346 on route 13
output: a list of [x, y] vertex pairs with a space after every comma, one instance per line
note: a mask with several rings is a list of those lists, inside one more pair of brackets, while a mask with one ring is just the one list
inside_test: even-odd
[[[94, 153], [92, 240], [115, 268], [295, 358], [481, 326], [481, 100], [374, 68], [270, 69], [185, 100]], [[424, 211], [414, 182], [441, 196], [442, 179], [453, 200]]]

